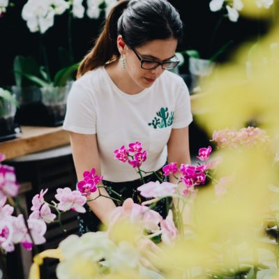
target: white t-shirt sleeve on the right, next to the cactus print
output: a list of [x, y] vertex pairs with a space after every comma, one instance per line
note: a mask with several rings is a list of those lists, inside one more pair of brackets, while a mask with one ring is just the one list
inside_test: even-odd
[[176, 105], [174, 111], [174, 122], [172, 128], [184, 128], [193, 121], [191, 113], [190, 95], [185, 82], [181, 81], [179, 91], [176, 95]]

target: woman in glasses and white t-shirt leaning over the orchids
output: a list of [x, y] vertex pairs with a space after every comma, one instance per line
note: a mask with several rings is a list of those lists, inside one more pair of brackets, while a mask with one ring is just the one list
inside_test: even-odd
[[[178, 165], [190, 162], [188, 89], [181, 77], [166, 70], [179, 63], [175, 51], [182, 34], [179, 13], [165, 0], [119, 1], [112, 9], [68, 96], [63, 128], [70, 131], [79, 180], [94, 167], [105, 185], [141, 202], [136, 191], [140, 176], [114, 159], [115, 149], [142, 142], [148, 153], [142, 168], [158, 174], [167, 158]], [[104, 188], [101, 193], [112, 195]], [[107, 223], [116, 206], [106, 197], [87, 204], [87, 212], [79, 216], [80, 234]], [[156, 210], [165, 216], [164, 203]]]

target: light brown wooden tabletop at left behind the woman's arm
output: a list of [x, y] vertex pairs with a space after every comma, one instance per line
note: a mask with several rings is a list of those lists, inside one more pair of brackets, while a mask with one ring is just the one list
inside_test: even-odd
[[0, 142], [0, 152], [6, 155], [6, 159], [70, 144], [69, 134], [62, 126], [21, 128], [22, 133], [17, 135], [15, 140]]

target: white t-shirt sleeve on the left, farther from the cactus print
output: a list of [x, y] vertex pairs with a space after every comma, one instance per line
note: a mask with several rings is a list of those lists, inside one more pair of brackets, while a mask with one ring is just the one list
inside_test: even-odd
[[80, 82], [70, 89], [63, 129], [80, 134], [96, 134], [96, 105], [93, 91]]

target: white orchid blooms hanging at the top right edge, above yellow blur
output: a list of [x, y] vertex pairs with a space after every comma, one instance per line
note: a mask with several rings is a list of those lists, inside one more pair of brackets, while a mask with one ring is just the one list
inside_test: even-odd
[[[241, 0], [211, 0], [209, 3], [209, 8], [212, 12], [216, 12], [223, 8], [224, 3], [226, 3], [227, 15], [229, 20], [232, 22], [237, 22], [239, 19], [239, 11], [243, 9], [243, 3]], [[256, 0], [256, 5], [258, 8], [269, 8], [273, 4], [273, 0]]]

